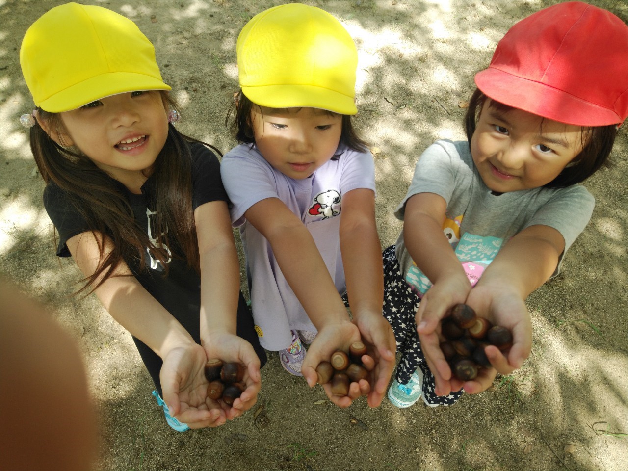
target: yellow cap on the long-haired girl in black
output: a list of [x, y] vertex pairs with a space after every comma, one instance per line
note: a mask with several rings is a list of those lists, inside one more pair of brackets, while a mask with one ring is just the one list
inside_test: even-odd
[[58, 113], [136, 90], [170, 90], [151, 41], [128, 18], [66, 3], [28, 28], [19, 62], [36, 106]]

